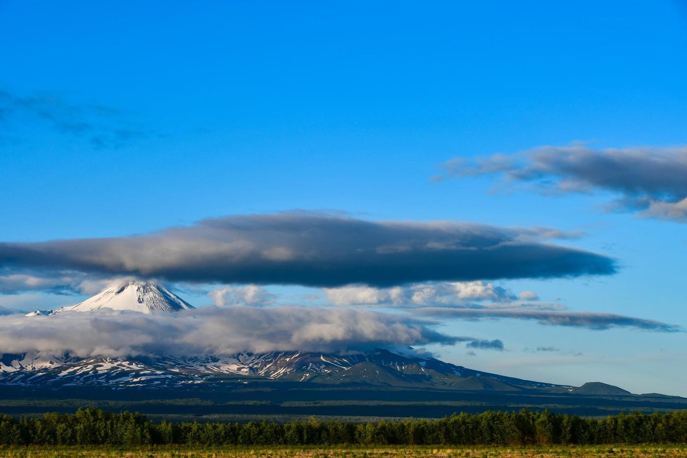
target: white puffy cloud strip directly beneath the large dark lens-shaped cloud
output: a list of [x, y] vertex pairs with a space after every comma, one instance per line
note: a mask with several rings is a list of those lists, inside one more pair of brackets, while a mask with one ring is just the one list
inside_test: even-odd
[[524, 301], [539, 299], [539, 296], [532, 291], [523, 291], [515, 295], [506, 288], [483, 281], [420, 283], [393, 288], [353, 285], [324, 288], [324, 292], [327, 301], [335, 306], [427, 307], [440, 305], [483, 308], [483, 305], [474, 304], [474, 302], [493, 301], [503, 306], [516, 299]]

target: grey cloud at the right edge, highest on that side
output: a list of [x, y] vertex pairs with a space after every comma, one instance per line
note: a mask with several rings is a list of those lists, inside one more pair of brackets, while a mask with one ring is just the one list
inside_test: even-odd
[[618, 194], [608, 210], [687, 221], [687, 146], [594, 149], [583, 145], [542, 146], [517, 154], [452, 159], [449, 176], [501, 175], [506, 183], [535, 183], [544, 193]]

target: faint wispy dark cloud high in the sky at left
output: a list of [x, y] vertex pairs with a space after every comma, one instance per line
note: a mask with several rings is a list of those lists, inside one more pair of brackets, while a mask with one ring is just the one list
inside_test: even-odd
[[98, 148], [119, 148], [147, 137], [150, 132], [128, 119], [128, 113], [98, 104], [72, 104], [54, 93], [19, 95], [0, 91], [0, 122], [42, 122], [64, 135], [88, 141]]

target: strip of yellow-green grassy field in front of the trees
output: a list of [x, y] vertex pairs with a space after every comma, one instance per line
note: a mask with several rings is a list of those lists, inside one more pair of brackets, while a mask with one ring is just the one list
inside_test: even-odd
[[684, 457], [687, 444], [680, 446], [607, 445], [543, 447], [0, 447], [0, 457], [12, 458], [409, 458], [409, 457]]

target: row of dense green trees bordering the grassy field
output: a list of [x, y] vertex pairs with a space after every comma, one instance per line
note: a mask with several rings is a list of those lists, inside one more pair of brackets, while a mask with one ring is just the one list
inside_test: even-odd
[[528, 445], [687, 442], [687, 411], [602, 419], [550, 411], [461, 413], [441, 420], [348, 423], [154, 423], [139, 413], [79, 409], [15, 419], [0, 415], [0, 445]]

